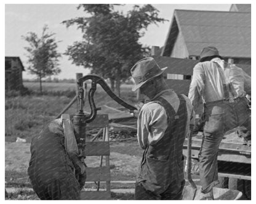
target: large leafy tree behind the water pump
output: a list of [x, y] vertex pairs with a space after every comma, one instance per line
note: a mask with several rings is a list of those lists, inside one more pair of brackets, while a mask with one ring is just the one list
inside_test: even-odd
[[158, 18], [159, 11], [150, 4], [134, 6], [126, 15], [114, 11], [113, 4], [80, 4], [78, 9], [84, 9], [89, 17], [62, 23], [67, 27], [78, 26], [83, 39], [68, 46], [65, 55], [74, 64], [91, 68], [92, 74], [108, 78], [111, 89], [114, 91], [115, 84], [120, 96], [120, 85], [130, 77], [130, 68], [148, 55], [149, 48], [143, 47], [138, 39], [148, 25], [166, 20]]

